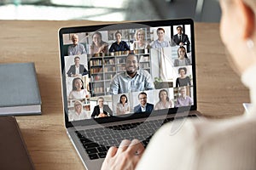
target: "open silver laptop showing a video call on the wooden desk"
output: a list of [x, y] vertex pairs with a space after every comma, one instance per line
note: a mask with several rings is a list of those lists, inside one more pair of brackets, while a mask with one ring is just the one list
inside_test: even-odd
[[200, 115], [193, 20], [63, 27], [59, 46], [65, 127], [89, 170], [122, 139], [146, 147], [164, 123]]

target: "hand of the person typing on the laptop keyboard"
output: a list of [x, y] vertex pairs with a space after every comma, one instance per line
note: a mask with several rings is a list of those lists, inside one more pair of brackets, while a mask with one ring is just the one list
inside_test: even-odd
[[111, 147], [103, 161], [102, 170], [131, 170], [143, 156], [144, 147], [138, 139], [123, 140], [119, 148]]

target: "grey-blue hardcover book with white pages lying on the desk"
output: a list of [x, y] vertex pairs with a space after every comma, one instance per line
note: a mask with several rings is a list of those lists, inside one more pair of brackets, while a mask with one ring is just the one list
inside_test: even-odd
[[0, 64], [0, 116], [41, 114], [34, 63]]

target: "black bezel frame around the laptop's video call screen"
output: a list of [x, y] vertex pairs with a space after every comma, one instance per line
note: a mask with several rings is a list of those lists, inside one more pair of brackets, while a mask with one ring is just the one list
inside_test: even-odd
[[[191, 31], [190, 48], [191, 48], [191, 59], [192, 59], [194, 105], [159, 110], [159, 111], [152, 111], [151, 113], [132, 114], [130, 116], [110, 116], [110, 117], [105, 117], [105, 118], [85, 119], [85, 120], [81, 120], [81, 121], [69, 122], [68, 116], [67, 116], [68, 115], [68, 113], [67, 113], [67, 87], [66, 87], [65, 59], [64, 59], [64, 48], [63, 48], [63, 36], [62, 35], [68, 34], [68, 33], [101, 31], [102, 28], [106, 28], [108, 26], [111, 26], [111, 28], [115, 28], [116, 30], [137, 28], [136, 25], [131, 25], [131, 24], [144, 25], [144, 26], [150, 26], [150, 27], [190, 25], [190, 31]], [[106, 30], [104, 30], [104, 31], [106, 31]], [[137, 119], [137, 118], [145, 118], [148, 116], [176, 114], [178, 112], [183, 112], [183, 111], [196, 111], [196, 109], [197, 109], [196, 74], [195, 74], [195, 27], [194, 27], [194, 21], [191, 19], [154, 20], [154, 21], [142, 21], [142, 22], [113, 23], [113, 24], [96, 25], [96, 26], [63, 27], [59, 30], [59, 50], [60, 50], [60, 60], [61, 60], [62, 101], [63, 101], [63, 107], [64, 107], [63, 111], [64, 111], [64, 116], [65, 116], [66, 127], [94, 125], [96, 123], [126, 121], [126, 120], [132, 120], [132, 119]]]

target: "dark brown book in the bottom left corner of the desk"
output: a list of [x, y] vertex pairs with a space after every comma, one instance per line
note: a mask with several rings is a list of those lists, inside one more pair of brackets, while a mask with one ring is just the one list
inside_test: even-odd
[[0, 169], [35, 169], [14, 116], [0, 116]]

